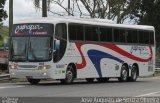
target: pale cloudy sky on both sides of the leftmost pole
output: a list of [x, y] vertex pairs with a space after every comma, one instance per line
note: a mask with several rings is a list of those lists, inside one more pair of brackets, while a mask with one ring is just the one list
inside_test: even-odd
[[[6, 1], [5, 8], [9, 15], [9, 0]], [[40, 16], [40, 11], [35, 10], [31, 0], [13, 0], [13, 22], [27, 18]], [[8, 25], [9, 18], [4, 21]]]

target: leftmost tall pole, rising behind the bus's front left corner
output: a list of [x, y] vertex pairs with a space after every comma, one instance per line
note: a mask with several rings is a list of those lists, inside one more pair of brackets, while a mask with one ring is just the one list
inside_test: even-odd
[[11, 35], [13, 27], [13, 0], [9, 0], [9, 35]]

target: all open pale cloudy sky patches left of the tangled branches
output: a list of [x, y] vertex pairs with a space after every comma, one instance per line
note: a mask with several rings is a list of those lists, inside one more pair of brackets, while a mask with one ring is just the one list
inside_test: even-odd
[[[7, 11], [9, 16], [9, 0], [6, 1], [4, 9]], [[64, 12], [58, 5], [51, 5], [51, 10], [54, 12]], [[51, 12], [48, 16], [58, 16]], [[41, 17], [41, 10], [36, 10], [33, 4], [33, 0], [13, 0], [13, 23], [31, 18]], [[3, 23], [8, 26], [9, 18], [7, 18]]]

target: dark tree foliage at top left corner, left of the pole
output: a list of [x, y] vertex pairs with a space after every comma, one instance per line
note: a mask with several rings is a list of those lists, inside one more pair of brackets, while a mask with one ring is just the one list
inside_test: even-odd
[[0, 23], [1, 24], [2, 24], [2, 21], [8, 17], [6, 11], [4, 10], [5, 2], [6, 0], [0, 0]]

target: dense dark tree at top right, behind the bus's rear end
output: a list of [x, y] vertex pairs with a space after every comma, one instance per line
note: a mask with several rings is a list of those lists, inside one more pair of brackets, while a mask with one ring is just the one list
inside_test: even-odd
[[139, 24], [155, 27], [156, 43], [160, 46], [160, 0], [142, 0], [140, 10]]

